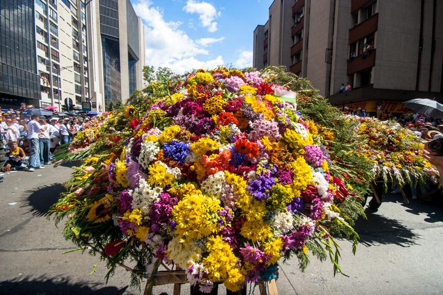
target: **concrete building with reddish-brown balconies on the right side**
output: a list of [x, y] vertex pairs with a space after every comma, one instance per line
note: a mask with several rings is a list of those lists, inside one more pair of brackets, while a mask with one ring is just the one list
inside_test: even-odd
[[285, 65], [336, 105], [401, 113], [408, 99], [442, 100], [439, 0], [275, 0], [253, 38], [254, 67]]

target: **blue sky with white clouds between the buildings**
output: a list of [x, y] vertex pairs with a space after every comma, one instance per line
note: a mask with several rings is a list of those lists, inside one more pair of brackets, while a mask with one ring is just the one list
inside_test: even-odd
[[253, 29], [272, 0], [131, 0], [146, 26], [146, 64], [177, 73], [252, 65]]

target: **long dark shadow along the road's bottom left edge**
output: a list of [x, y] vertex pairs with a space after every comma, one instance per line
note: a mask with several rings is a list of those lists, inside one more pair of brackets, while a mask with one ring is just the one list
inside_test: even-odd
[[[18, 277], [0, 282], [0, 294], [8, 295], [123, 295], [128, 286], [118, 289], [106, 286], [98, 288], [99, 283], [72, 283], [69, 278], [39, 276], [37, 278]], [[136, 294], [136, 293], [134, 293]]]

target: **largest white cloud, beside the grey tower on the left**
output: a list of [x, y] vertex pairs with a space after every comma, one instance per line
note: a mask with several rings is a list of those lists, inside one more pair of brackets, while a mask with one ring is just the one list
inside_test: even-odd
[[193, 40], [180, 29], [181, 22], [165, 21], [162, 9], [151, 6], [151, 1], [140, 0], [132, 5], [146, 25], [146, 64], [169, 67], [174, 72], [182, 74], [193, 68], [209, 68], [223, 63], [221, 56], [206, 61], [197, 59], [198, 55], [209, 54], [204, 46], [219, 42], [222, 38]]

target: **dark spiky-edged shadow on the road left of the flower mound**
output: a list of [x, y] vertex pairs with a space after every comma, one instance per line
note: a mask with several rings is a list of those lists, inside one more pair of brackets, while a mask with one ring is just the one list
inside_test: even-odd
[[62, 183], [32, 188], [32, 190], [24, 192], [24, 196], [20, 199], [20, 207], [28, 208], [26, 213], [43, 216], [59, 200], [62, 192], [64, 192]]

